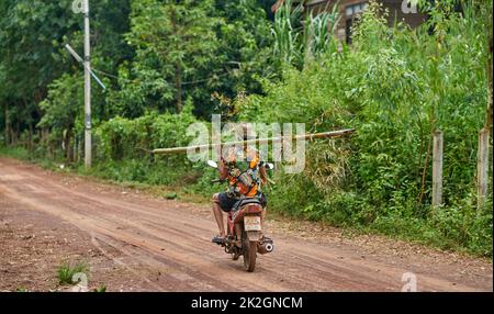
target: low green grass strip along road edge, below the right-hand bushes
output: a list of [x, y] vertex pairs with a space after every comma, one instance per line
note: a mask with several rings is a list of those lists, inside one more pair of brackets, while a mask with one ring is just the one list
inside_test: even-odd
[[[461, 215], [454, 212], [462, 211]], [[451, 214], [450, 212], [453, 212]], [[429, 218], [412, 215], [389, 214], [379, 216], [372, 223], [362, 223], [355, 216], [336, 220], [335, 213], [323, 213], [318, 216], [299, 211], [285, 211], [284, 208], [272, 208], [271, 214], [291, 220], [308, 220], [337, 226], [344, 233], [383, 235], [427, 247], [454, 251], [463, 255], [492, 259], [492, 199], [486, 206], [476, 209], [450, 210], [441, 209], [440, 213]], [[338, 214], [338, 211], [336, 212]], [[353, 220], [353, 221], [352, 221]], [[352, 221], [352, 222], [350, 222]]]

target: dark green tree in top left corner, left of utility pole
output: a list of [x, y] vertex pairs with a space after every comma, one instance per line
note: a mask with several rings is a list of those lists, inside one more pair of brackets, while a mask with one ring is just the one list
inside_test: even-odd
[[64, 71], [54, 43], [75, 29], [68, 8], [70, 1], [46, 3], [40, 0], [7, 0], [0, 7], [0, 54], [3, 75], [0, 86], [5, 116], [14, 124], [14, 138], [29, 130], [30, 143], [34, 124], [40, 119], [37, 103], [47, 94], [47, 85]]

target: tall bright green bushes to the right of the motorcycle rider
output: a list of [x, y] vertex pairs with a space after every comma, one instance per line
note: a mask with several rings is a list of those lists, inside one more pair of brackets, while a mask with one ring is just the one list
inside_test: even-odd
[[[378, 13], [378, 5], [364, 13], [351, 51], [328, 51], [268, 83], [266, 97], [243, 101], [245, 119], [305, 122], [312, 132], [357, 128], [346, 143], [311, 144], [305, 171], [277, 178], [285, 183], [272, 208], [489, 255], [492, 209], [475, 210], [476, 136], [487, 103], [489, 34], [479, 30], [486, 20], [467, 8], [464, 19], [448, 20], [446, 35], [428, 35], [425, 27], [389, 29]], [[430, 206], [436, 128], [446, 143], [440, 209]]]

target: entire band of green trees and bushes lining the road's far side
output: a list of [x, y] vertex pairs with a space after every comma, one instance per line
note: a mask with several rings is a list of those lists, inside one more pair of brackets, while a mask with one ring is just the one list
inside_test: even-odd
[[[0, 137], [77, 168], [82, 71], [61, 47], [81, 51], [81, 16], [59, 2], [0, 4]], [[336, 11], [312, 15], [291, 1], [273, 21], [265, 11], [273, 1], [98, 2], [92, 61], [108, 91], [93, 86], [91, 173], [207, 195], [220, 189], [213, 170], [148, 150], [186, 146], [188, 126], [212, 113], [307, 132], [355, 127], [349, 138], [311, 142], [303, 173], [276, 172], [270, 209], [492, 256], [492, 186], [481, 211], [475, 188], [492, 2], [463, 3], [460, 15], [442, 1], [414, 30], [390, 27], [374, 3], [351, 46], [333, 36]], [[436, 130], [445, 134], [439, 208], [430, 205]]]

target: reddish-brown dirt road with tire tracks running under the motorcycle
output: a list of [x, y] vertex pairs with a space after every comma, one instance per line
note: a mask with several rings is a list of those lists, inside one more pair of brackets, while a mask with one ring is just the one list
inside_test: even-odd
[[[418, 291], [493, 290], [492, 263], [483, 259], [381, 237], [345, 238], [324, 228], [317, 235], [316, 224], [302, 223], [294, 231], [278, 221], [268, 224], [274, 251], [261, 256], [256, 271], [247, 273], [242, 258], [232, 261], [211, 244], [216, 227], [207, 205], [151, 198], [7, 158], [0, 158], [0, 222], [10, 225], [22, 227], [21, 220], [30, 220], [30, 226], [49, 229], [59, 239], [70, 238], [70, 231], [81, 234], [78, 245], [139, 278], [145, 287], [134, 290], [401, 291], [405, 272], [416, 276]], [[9, 270], [14, 261], [7, 247], [8, 240], [0, 243], [0, 279], [9, 288], [21, 276], [15, 272], [26, 267]], [[23, 259], [29, 259], [32, 248], [25, 247]], [[50, 254], [36, 257], [49, 259]], [[97, 271], [111, 276], [113, 270]], [[35, 269], [26, 276], [36, 276]], [[131, 283], [128, 276], [119, 278]]]

